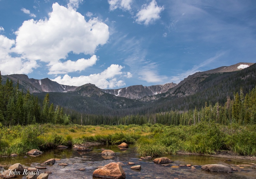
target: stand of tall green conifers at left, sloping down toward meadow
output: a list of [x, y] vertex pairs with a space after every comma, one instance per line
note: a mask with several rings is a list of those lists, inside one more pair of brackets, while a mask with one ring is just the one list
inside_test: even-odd
[[27, 125], [35, 123], [69, 124], [70, 116], [64, 114], [63, 108], [49, 105], [49, 94], [46, 94], [43, 104], [38, 97], [19, 90], [19, 81], [13, 87], [12, 80], [7, 79], [2, 85], [0, 72], [0, 123], [9, 125]]

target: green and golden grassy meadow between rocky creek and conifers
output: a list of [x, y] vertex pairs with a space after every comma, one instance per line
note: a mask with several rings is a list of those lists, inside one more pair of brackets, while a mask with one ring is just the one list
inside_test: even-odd
[[126, 142], [135, 144], [140, 155], [154, 157], [176, 154], [179, 150], [203, 154], [231, 150], [239, 155], [256, 155], [256, 125], [223, 126], [201, 122], [195, 126], [33, 124], [0, 128], [1, 155], [85, 142]]

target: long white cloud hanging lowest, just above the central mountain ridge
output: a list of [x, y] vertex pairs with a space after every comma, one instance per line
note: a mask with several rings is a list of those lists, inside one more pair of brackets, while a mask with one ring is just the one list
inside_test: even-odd
[[71, 77], [68, 74], [65, 74], [63, 78], [61, 78], [61, 76], [58, 76], [52, 81], [64, 85], [81, 86], [87, 83], [92, 83], [101, 89], [115, 88], [125, 85], [123, 80], [117, 80], [117, 78], [115, 77], [116, 75], [122, 74], [122, 68], [123, 66], [121, 65], [112, 64], [106, 70], [98, 74], [78, 77]]

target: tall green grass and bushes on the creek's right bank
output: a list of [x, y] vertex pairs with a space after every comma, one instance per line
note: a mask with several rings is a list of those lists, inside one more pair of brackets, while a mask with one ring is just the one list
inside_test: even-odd
[[136, 142], [140, 155], [163, 156], [179, 150], [213, 154], [231, 150], [239, 155], [256, 154], [256, 126], [221, 126], [201, 122], [195, 126], [154, 125], [154, 132]]

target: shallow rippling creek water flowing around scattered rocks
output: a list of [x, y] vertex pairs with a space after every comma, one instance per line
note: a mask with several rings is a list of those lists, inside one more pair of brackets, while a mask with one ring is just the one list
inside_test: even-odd
[[[116, 152], [115, 156], [105, 158], [101, 156], [101, 148], [110, 149]], [[49, 179], [92, 179], [92, 173], [96, 167], [104, 166], [110, 162], [122, 162], [126, 164], [123, 166], [124, 172], [126, 174], [126, 179], [255, 179], [256, 169], [251, 167], [240, 168], [237, 165], [249, 164], [252, 165], [254, 161], [250, 160], [234, 160], [228, 161], [228, 158], [219, 157], [206, 157], [206, 156], [196, 156], [196, 155], [169, 155], [162, 156], [168, 157], [173, 163], [170, 166], [161, 166], [155, 164], [152, 160], [142, 160], [139, 161], [140, 155], [135, 151], [135, 147], [130, 146], [128, 150], [121, 151], [117, 146], [111, 145], [101, 145], [92, 148], [91, 152], [78, 152], [73, 149], [65, 150], [51, 150], [45, 151], [42, 155], [37, 157], [28, 156], [23, 158], [23, 156], [18, 157], [8, 157], [0, 158], [1, 165], [7, 165], [4, 167], [8, 169], [10, 165], [15, 163], [20, 163], [27, 167], [40, 166], [40, 163], [51, 159], [58, 158], [61, 160], [56, 160], [56, 163], [52, 166], [47, 166], [47, 169], [39, 170], [39, 173], [44, 173], [44, 171], [51, 171], [52, 174], [49, 175]], [[128, 162], [134, 162], [136, 165], [141, 165], [141, 171], [130, 169]], [[59, 163], [67, 163], [68, 166], [62, 167], [58, 165]], [[195, 169], [191, 167], [172, 167], [179, 165], [198, 165]], [[202, 171], [201, 166], [206, 164], [224, 164], [230, 167], [236, 167], [238, 171], [233, 173], [220, 173], [220, 172], [207, 172]], [[85, 168], [84, 171], [80, 171], [79, 168]], [[26, 178], [26, 175], [21, 175], [18, 179]]]

